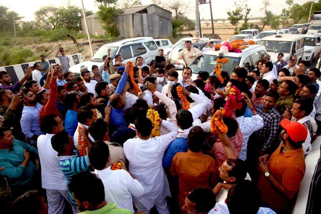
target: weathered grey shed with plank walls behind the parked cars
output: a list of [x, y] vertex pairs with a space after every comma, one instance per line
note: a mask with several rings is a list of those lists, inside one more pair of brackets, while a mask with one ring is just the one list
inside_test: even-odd
[[[86, 18], [90, 34], [98, 36], [105, 33], [96, 13]], [[124, 38], [160, 38], [173, 34], [172, 13], [155, 4], [124, 9], [124, 13], [116, 17], [116, 22], [120, 36]], [[81, 23], [85, 33], [83, 18]]]

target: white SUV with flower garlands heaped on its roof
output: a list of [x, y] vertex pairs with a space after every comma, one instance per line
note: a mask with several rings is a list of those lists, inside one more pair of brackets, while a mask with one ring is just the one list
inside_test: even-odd
[[[256, 63], [263, 59], [263, 56], [267, 54], [267, 51], [262, 45], [245, 45], [245, 49], [242, 50], [242, 53], [228, 52], [225, 54], [225, 57], [228, 61], [223, 65], [222, 71], [226, 71], [229, 75], [232, 73], [236, 66], [245, 67], [248, 71], [253, 70], [256, 67]], [[212, 48], [208, 51], [205, 51], [202, 56], [197, 57], [193, 62], [191, 62], [188, 67], [192, 69], [192, 79], [197, 79], [197, 74], [200, 71], [207, 71], [212, 73], [216, 65], [216, 59], [219, 56], [218, 51], [215, 51], [215, 48]], [[176, 66], [178, 74], [181, 75], [181, 68]]]

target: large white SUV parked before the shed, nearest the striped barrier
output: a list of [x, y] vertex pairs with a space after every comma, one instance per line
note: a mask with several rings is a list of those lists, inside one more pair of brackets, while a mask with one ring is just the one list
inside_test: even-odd
[[[111, 49], [111, 57], [120, 54], [124, 59], [123, 63], [127, 61], [135, 62], [136, 57], [141, 56], [144, 59], [144, 64], [148, 64], [158, 55], [158, 47], [152, 37], [123, 39], [101, 46], [94, 56], [92, 56], [91, 60], [71, 66], [69, 70], [80, 73], [80, 68], [83, 65], [87, 66], [89, 71], [91, 71], [92, 65], [99, 67], [104, 63], [102, 57], [107, 55], [108, 49]], [[113, 63], [115, 63], [114, 61]]]

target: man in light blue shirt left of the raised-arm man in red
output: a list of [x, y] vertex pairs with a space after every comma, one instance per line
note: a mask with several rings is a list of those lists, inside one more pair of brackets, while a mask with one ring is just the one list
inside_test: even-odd
[[39, 135], [44, 134], [39, 126], [39, 111], [42, 105], [37, 103], [36, 95], [29, 89], [23, 89], [22, 92], [24, 94], [24, 107], [20, 120], [22, 132], [30, 139], [31, 143], [36, 143]]

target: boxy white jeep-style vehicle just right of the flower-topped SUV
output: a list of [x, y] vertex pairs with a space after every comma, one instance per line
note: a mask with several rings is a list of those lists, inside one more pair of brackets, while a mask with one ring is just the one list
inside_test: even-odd
[[304, 35], [303, 34], [279, 34], [264, 37], [259, 42], [264, 45], [268, 54], [271, 56], [272, 62], [277, 61], [279, 53], [283, 53], [285, 61], [290, 59], [291, 55], [298, 57], [298, 62], [302, 60], [304, 51]]

